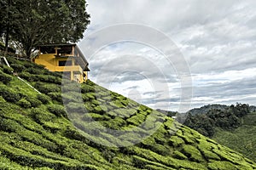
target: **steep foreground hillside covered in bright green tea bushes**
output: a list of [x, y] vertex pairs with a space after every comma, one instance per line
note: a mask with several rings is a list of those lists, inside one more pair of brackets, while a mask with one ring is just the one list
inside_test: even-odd
[[[78, 114], [75, 125], [87, 126], [86, 132], [81, 133], [62, 105], [60, 74], [26, 61], [9, 58], [9, 63], [16, 74], [43, 94], [1, 66], [0, 169], [256, 169], [256, 164], [241, 154], [90, 81], [81, 84], [82, 95], [73, 86], [69, 91], [62, 88], [72, 94], [63, 97], [66, 109]], [[76, 105], [74, 96], [82, 96], [84, 105]], [[79, 112], [84, 108], [87, 114]], [[85, 138], [97, 134], [103, 144], [131, 144], [142, 139], [143, 134], [112, 141], [113, 136], [105, 129], [90, 128], [93, 125], [88, 126], [86, 121], [92, 117], [104, 127], [122, 131], [137, 127], [150, 116], [154, 122], [155, 115], [162, 117], [163, 123], [149, 138], [135, 145], [108, 147]], [[154, 126], [148, 124], [147, 128]]]

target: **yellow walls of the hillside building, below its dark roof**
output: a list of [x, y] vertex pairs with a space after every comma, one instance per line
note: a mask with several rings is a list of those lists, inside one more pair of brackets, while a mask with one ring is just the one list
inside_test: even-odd
[[[74, 59], [72, 59], [72, 65], [59, 66], [59, 61], [67, 60], [67, 59], [56, 58], [55, 54], [39, 54], [38, 57], [34, 59], [34, 62], [38, 65], [44, 65], [45, 68], [48, 69], [49, 71], [61, 71], [61, 72], [70, 71], [71, 80], [74, 80], [77, 82], [86, 81], [88, 79], [87, 71], [83, 71], [80, 65], [75, 65]], [[83, 77], [84, 72], [86, 72], [85, 80]]]

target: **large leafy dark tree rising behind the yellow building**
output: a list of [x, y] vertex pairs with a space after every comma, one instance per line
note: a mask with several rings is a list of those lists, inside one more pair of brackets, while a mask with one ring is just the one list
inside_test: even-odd
[[10, 36], [27, 57], [39, 44], [79, 41], [90, 24], [85, 0], [11, 0], [11, 6]]

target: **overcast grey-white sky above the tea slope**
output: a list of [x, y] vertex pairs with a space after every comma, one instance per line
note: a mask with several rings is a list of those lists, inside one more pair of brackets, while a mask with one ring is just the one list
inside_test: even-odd
[[79, 46], [92, 81], [154, 109], [183, 111], [183, 95], [190, 108], [256, 105], [256, 1], [87, 3], [91, 22]]

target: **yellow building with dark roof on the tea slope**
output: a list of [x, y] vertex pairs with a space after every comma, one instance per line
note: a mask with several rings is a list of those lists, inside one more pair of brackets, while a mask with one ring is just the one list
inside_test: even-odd
[[38, 56], [32, 59], [49, 71], [63, 72], [70, 80], [84, 82], [88, 78], [89, 63], [76, 44], [49, 44], [38, 47]]

